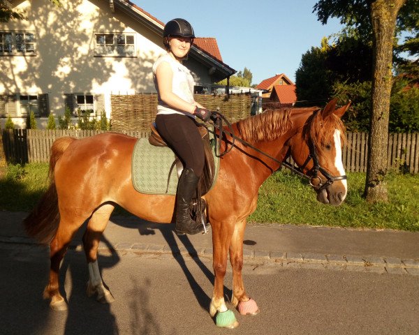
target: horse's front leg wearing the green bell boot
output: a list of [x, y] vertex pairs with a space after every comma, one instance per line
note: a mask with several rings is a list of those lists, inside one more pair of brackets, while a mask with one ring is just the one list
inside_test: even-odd
[[210, 304], [210, 315], [215, 316], [219, 327], [235, 328], [239, 325], [233, 311], [230, 311], [224, 301], [224, 276], [227, 271], [227, 254], [233, 235], [234, 223], [212, 221], [212, 265], [214, 267], [214, 292]]

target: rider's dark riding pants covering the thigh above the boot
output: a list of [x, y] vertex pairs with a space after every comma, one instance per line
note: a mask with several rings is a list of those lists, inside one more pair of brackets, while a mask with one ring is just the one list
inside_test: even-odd
[[203, 174], [205, 153], [196, 121], [182, 114], [159, 114], [156, 116], [156, 126], [184, 168], [191, 168], [200, 177]]

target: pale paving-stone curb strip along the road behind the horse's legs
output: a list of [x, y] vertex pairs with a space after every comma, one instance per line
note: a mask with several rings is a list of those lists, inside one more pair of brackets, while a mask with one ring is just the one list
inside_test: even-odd
[[[0, 237], [0, 249], [22, 250], [27, 248], [47, 248], [28, 237]], [[80, 241], [73, 241], [71, 251], [82, 251]], [[177, 245], [141, 244], [119, 242], [115, 245], [101, 242], [98, 253], [109, 255], [112, 252], [133, 253], [135, 255], [179, 255], [191, 258], [212, 258], [213, 250], [208, 247], [190, 246], [180, 248]], [[419, 260], [386, 258], [377, 255], [329, 255], [321, 253], [295, 253], [286, 251], [253, 251], [244, 248], [245, 262], [272, 263], [288, 268], [333, 269], [349, 271], [366, 271], [388, 274], [410, 274], [419, 276]]]

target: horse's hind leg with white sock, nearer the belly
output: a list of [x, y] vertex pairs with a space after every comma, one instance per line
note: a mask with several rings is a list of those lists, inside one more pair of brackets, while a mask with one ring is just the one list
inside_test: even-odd
[[84, 253], [86, 253], [89, 267], [89, 281], [87, 282], [87, 295], [96, 295], [96, 299], [103, 304], [114, 301], [110, 291], [103, 285], [101, 272], [98, 266], [98, 246], [103, 231], [108, 224], [110, 214], [115, 207], [112, 204], [104, 204], [91, 216], [83, 235]]

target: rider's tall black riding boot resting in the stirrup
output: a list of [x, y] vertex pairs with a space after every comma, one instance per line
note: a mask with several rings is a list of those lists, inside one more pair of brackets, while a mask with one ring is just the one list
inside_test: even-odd
[[[186, 168], [182, 171], [177, 185], [177, 207], [176, 207], [176, 233], [183, 234], [198, 234], [204, 231], [204, 225], [201, 222], [201, 214], [197, 214], [196, 220], [191, 216], [191, 202], [193, 195], [195, 195], [196, 186], [199, 178], [191, 168]], [[205, 215], [203, 215], [205, 220]], [[207, 222], [205, 220], [205, 226]]]

